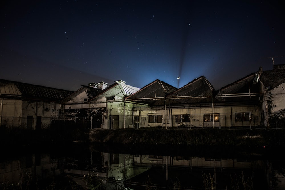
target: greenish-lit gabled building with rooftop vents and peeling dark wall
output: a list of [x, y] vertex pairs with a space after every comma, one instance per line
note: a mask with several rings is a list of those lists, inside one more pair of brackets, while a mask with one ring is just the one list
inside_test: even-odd
[[82, 86], [62, 100], [64, 120], [91, 129], [128, 128], [132, 124], [132, 104], [123, 99], [138, 90], [122, 80], [108, 87], [104, 82]]

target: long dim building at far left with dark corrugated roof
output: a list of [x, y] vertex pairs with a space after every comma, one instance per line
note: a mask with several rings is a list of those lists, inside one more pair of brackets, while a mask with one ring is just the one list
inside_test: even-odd
[[[60, 115], [60, 101], [72, 91], [0, 80], [0, 126], [43, 129]], [[56, 114], [55, 114], [56, 113]]]

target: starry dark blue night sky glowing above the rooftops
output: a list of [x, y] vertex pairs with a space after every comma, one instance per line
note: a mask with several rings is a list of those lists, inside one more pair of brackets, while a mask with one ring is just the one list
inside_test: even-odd
[[216, 90], [285, 64], [282, 1], [5, 1], [0, 79], [77, 90], [116, 80]]

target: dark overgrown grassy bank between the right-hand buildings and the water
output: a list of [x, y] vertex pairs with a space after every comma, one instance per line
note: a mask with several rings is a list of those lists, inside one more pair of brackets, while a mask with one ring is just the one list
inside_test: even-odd
[[[104, 144], [164, 144], [193, 146], [285, 146], [285, 130], [95, 130], [91, 142]], [[282, 137], [283, 136], [283, 137]]]

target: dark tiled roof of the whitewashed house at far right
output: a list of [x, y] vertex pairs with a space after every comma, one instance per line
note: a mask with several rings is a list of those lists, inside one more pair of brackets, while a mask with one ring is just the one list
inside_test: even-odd
[[285, 83], [285, 64], [274, 65], [272, 70], [263, 71], [260, 80], [265, 87], [275, 88]]

